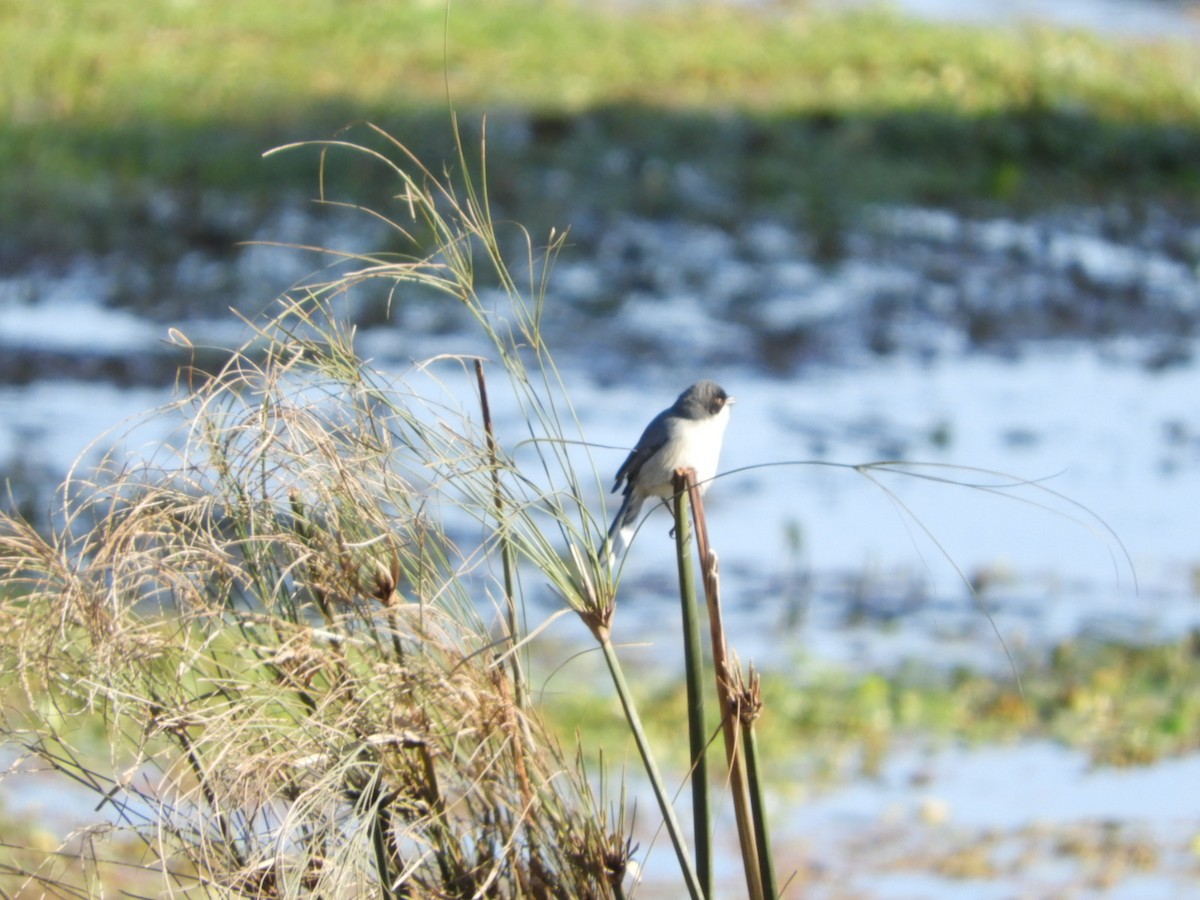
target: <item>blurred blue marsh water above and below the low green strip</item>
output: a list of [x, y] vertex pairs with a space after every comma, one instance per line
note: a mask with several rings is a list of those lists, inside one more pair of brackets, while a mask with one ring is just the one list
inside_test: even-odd
[[[626, 221], [564, 258], [544, 324], [594, 443], [576, 461], [598, 467], [595, 515], [612, 511], [601, 485], [644, 421], [709, 376], [738, 398], [726, 474], [707, 498], [732, 642], [743, 660], [786, 667], [798, 690], [810, 662], [916, 658], [1007, 677], [1008, 653], [1074, 635], [1154, 641], [1200, 626], [1200, 229], [1165, 214], [965, 221], [893, 209], [846, 244], [845, 259], [820, 265], [805, 235], [775, 222]], [[264, 252], [238, 263], [234, 295], [248, 312], [270, 305], [264, 284], [278, 290], [314, 268]], [[36, 509], [102, 430], [173, 396], [169, 328], [197, 344], [246, 336], [217, 304], [178, 316], [122, 304], [120, 271], [119, 260], [79, 260], [0, 286], [0, 464]], [[214, 275], [203, 259], [190, 271]], [[434, 354], [487, 355], [452, 311], [401, 300], [391, 319], [365, 322], [359, 346], [410, 386], [474, 407], [461, 366], [412, 372]], [[503, 379], [491, 401], [499, 439], [515, 446], [527, 433]], [[125, 445], [155, 452], [178, 425], [152, 420]], [[878, 484], [846, 467], [895, 458], [925, 466], [876, 472]], [[626, 562], [614, 634], [631, 665], [678, 656], [667, 529], [654, 512]], [[526, 583], [532, 616], [553, 612], [548, 590]], [[568, 659], [583, 629], [564, 618], [548, 636]], [[1144, 840], [1153, 869], [1123, 872], [1106, 895], [1181, 895], [1194, 887], [1198, 810], [1178, 785], [1195, 764], [1091, 772], [1082, 756], [1036, 744], [895, 751], [878, 775], [851, 766], [850, 782], [829, 790], [784, 776], [772, 810], [779, 866], [806, 872], [808, 896], [1049, 896], [1100, 877], [1063, 846]], [[22, 784], [6, 786], [12, 809], [47, 805], [50, 788]], [[54, 798], [71, 817], [94, 800]], [[648, 848], [654, 835], [641, 840]], [[983, 847], [1000, 874], [947, 876], [940, 853], [956, 847]], [[673, 896], [661, 842], [647, 865], [640, 895]], [[731, 893], [737, 865], [722, 856]]]

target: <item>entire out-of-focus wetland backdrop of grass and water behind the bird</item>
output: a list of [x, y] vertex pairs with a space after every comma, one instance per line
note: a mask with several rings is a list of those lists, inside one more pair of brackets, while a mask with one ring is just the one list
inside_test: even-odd
[[[0, 2], [6, 502], [48, 524], [175, 396], [170, 329], [220, 360], [312, 247], [390, 248], [316, 202], [396, 214], [386, 167], [264, 151], [371, 122], [452, 173], [452, 114], [498, 220], [569, 229], [544, 326], [602, 469], [695, 378], [738, 398], [710, 528], [796, 895], [1195, 890], [1196, 7]], [[479, 349], [355, 304], [377, 365]], [[880, 460], [922, 467], [840, 467]], [[650, 673], [666, 528], [623, 586]], [[0, 833], [90, 812], [0, 781]]]

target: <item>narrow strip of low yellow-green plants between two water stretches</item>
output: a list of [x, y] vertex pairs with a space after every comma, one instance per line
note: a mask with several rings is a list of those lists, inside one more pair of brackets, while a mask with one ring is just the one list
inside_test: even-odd
[[[1152, 646], [1074, 638], [1016, 665], [1019, 680], [919, 661], [889, 673], [767, 671], [758, 728], [772, 775], [785, 784], [874, 775], [890, 749], [913, 742], [1050, 739], [1102, 766], [1150, 764], [1200, 748], [1200, 632]], [[594, 682], [551, 686], [546, 702], [564, 731], [578, 730], [584, 745], [605, 745], [612, 756], [628, 740], [620, 710], [611, 697], [574, 689], [586, 683]], [[682, 755], [683, 685], [648, 679], [641, 690], [658, 742]]]

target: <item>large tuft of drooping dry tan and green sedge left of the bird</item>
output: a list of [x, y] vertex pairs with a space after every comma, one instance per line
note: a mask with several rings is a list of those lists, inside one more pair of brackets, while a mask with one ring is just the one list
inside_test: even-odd
[[[517, 665], [522, 568], [590, 624], [612, 616], [539, 331], [560, 235], [535, 254], [517, 234], [518, 284], [466, 155], [454, 186], [373, 139], [323, 160], [391, 169], [406, 250], [342, 256], [220, 371], [185, 367], [162, 413], [179, 439], [68, 481], [53, 533], [0, 517], [19, 700], [0, 739], [94, 791], [161, 894], [619, 896], [624, 803], [594, 794]], [[521, 464], [485, 427], [475, 360], [362, 359], [349, 299], [366, 282], [478, 323], [527, 430]], [[89, 893], [41, 865], [23, 877]]]

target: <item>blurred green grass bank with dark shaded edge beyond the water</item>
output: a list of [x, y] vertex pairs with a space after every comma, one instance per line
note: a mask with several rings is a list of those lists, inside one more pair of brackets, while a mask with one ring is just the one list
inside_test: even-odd
[[[312, 196], [316, 154], [262, 151], [365, 120], [449, 160], [451, 104], [468, 139], [488, 116], [493, 203], [534, 228], [1200, 194], [1183, 43], [804, 2], [4, 0], [4, 248], [134, 242], [163, 191]], [[679, 190], [682, 164], [712, 190]], [[389, 187], [338, 174], [364, 199]]]

